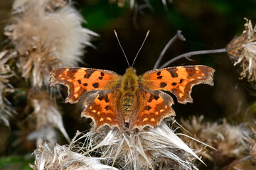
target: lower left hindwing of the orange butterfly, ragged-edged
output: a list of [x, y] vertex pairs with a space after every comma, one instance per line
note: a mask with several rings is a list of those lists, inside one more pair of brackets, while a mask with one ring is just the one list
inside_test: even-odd
[[84, 104], [87, 107], [82, 111], [81, 116], [91, 118], [94, 123], [95, 130], [108, 125], [111, 129], [117, 127], [122, 131], [123, 118], [122, 115], [118, 113], [118, 101], [120, 95], [121, 93], [118, 90], [114, 90], [110, 94], [92, 94], [92, 97], [94, 96], [95, 100], [90, 103], [85, 101]]

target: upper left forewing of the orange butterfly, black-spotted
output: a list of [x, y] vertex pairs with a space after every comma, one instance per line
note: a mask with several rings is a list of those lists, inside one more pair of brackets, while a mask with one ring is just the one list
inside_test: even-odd
[[61, 67], [50, 72], [50, 86], [68, 86], [65, 102], [76, 103], [82, 94], [92, 90], [109, 90], [118, 85], [120, 76], [115, 72], [79, 67]]

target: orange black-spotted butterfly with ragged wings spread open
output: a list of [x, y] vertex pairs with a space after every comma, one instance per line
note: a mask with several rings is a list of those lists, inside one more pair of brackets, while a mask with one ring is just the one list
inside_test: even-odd
[[[102, 69], [61, 67], [50, 73], [50, 86], [68, 86], [66, 103], [77, 103], [85, 95], [82, 115], [91, 118], [94, 129], [108, 125], [143, 130], [155, 127], [164, 118], [175, 116], [171, 106], [176, 96], [179, 103], [192, 103], [192, 87], [196, 84], [213, 86], [215, 70], [203, 65], [155, 69], [137, 76], [134, 67], [124, 75]], [[166, 93], [167, 92], [167, 93]]]

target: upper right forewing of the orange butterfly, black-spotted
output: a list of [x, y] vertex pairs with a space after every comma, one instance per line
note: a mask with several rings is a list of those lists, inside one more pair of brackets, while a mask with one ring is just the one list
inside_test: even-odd
[[213, 68], [203, 65], [156, 69], [139, 76], [139, 84], [144, 89], [170, 91], [179, 103], [192, 103], [192, 87], [196, 84], [213, 86], [214, 72]]

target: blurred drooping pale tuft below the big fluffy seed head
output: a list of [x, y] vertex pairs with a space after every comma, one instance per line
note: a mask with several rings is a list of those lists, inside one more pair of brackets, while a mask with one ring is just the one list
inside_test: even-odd
[[50, 96], [46, 91], [41, 91], [40, 94], [31, 94], [29, 98], [33, 107], [32, 117], [36, 121], [36, 131], [28, 135], [28, 140], [36, 140], [37, 145], [40, 145], [46, 139], [50, 144], [55, 145], [57, 133], [54, 128], [58, 128], [70, 141], [63, 125], [61, 113], [55, 103], [50, 101]]

